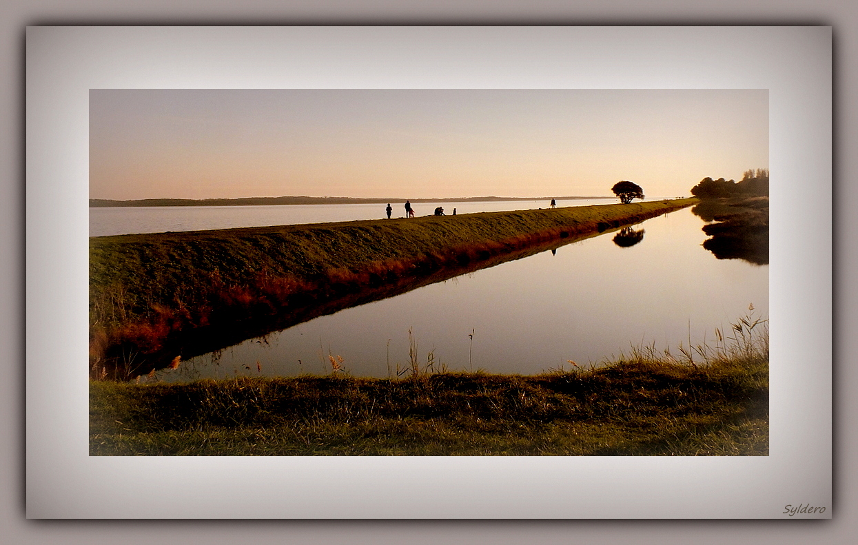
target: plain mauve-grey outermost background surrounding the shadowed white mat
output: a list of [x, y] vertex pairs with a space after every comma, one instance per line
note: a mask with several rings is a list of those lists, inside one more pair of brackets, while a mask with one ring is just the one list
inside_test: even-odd
[[[734, 4], [734, 5], [731, 5]], [[609, 3], [598, 11], [586, 11], [569, 7], [559, 7], [550, 3], [529, 4], [527, 7], [504, 3], [493, 3], [492, 8], [471, 8], [477, 4], [461, 3], [455, 8], [432, 9], [410, 7], [390, 9], [382, 3], [366, 8], [343, 9], [331, 3], [314, 3], [312, 8], [301, 9], [296, 3], [293, 8], [277, 11], [275, 8], [257, 3], [242, 3], [239, 7], [224, 3], [223, 11], [215, 9], [218, 3], [148, 3], [146, 8], [130, 6], [111, 6], [109, 3], [79, 2], [74, 8], [62, 3], [37, 3], [27, 9], [15, 5], [4, 5], [3, 17], [3, 67], [6, 78], [3, 82], [4, 116], [2, 164], [7, 167], [3, 179], [3, 337], [2, 346], [9, 347], [6, 380], [3, 381], [3, 420], [4, 438], [3, 469], [3, 533], [6, 542], [669, 542], [671, 539], [686, 542], [692, 538], [696, 542], [838, 542], [847, 535], [848, 518], [855, 518], [854, 492], [855, 481], [847, 465], [846, 452], [854, 445], [854, 437], [848, 433], [854, 422], [847, 416], [854, 413], [855, 403], [847, 397], [836, 398], [837, 451], [835, 511], [833, 521], [789, 521], [789, 522], [166, 522], [166, 523], [70, 523], [58, 521], [26, 521], [23, 518], [23, 373], [21, 362], [23, 334], [21, 316], [23, 302], [21, 285], [23, 278], [22, 263], [22, 66], [23, 66], [23, 27], [25, 25], [44, 24], [164, 24], [196, 23], [201, 21], [200, 13], [206, 13], [205, 22], [223, 22], [227, 24], [265, 23], [295, 24], [312, 22], [326, 24], [331, 22], [378, 24], [408, 22], [439, 23], [498, 23], [498, 24], [617, 24], [617, 23], [657, 23], [657, 24], [741, 24], [741, 23], [777, 23], [777, 24], [821, 24], [834, 27], [835, 70], [836, 76], [836, 159], [835, 181], [838, 211], [836, 218], [836, 243], [839, 248], [850, 244], [854, 233], [854, 223], [849, 217], [843, 217], [846, 202], [854, 201], [855, 185], [844, 180], [854, 179], [854, 161], [847, 163], [845, 150], [854, 150], [855, 105], [845, 103], [843, 99], [855, 88], [855, 27], [846, 26], [846, 22], [855, 21], [855, 14], [846, 11], [846, 3], [819, 3], [811, 7], [810, 3], [777, 3], [777, 9], [762, 3], [722, 3], [715, 7], [677, 7], [668, 3], [650, 3], [646, 12], [629, 3]], [[306, 4], [310, 6], [311, 4]], [[366, 4], [365, 4], [366, 5]], [[785, 8], [785, 6], [787, 8]], [[791, 8], [790, 8], [791, 6]], [[386, 8], [386, 9], [385, 9]], [[230, 10], [233, 11], [230, 11]], [[683, 13], [683, 9], [689, 9]], [[124, 10], [127, 10], [123, 13]], [[456, 13], [457, 12], [457, 13]], [[171, 15], [166, 18], [166, 14]], [[215, 18], [222, 14], [220, 18]], [[731, 14], [731, 15], [726, 15]], [[315, 15], [315, 16], [314, 16]], [[843, 22], [846, 21], [846, 22]], [[854, 93], [851, 93], [854, 95]], [[850, 233], [850, 230], [853, 233]], [[854, 246], [854, 239], [851, 239]], [[10, 256], [11, 258], [7, 257]], [[854, 325], [854, 296], [848, 290], [850, 278], [845, 270], [854, 259], [854, 255], [841, 251], [837, 256], [839, 274], [837, 280], [838, 331], [849, 331]], [[850, 305], [850, 303], [852, 303]], [[852, 312], [851, 314], [849, 312]], [[848, 354], [849, 339], [838, 336], [837, 355]], [[839, 393], [849, 385], [855, 384], [855, 372], [843, 366], [848, 357], [838, 360], [836, 384]], [[851, 486], [850, 486], [851, 485]], [[850, 515], [852, 515], [850, 517]]]

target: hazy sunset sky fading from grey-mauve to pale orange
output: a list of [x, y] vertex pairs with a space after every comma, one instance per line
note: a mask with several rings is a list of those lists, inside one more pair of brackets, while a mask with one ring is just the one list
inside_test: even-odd
[[650, 197], [769, 166], [766, 90], [90, 91], [90, 197]]

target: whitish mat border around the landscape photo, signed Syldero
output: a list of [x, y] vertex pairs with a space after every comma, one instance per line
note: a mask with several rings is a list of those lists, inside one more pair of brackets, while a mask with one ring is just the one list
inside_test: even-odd
[[[88, 456], [90, 88], [769, 89], [770, 455]], [[28, 518], [789, 518], [801, 504], [831, 517], [831, 27], [27, 28]]]

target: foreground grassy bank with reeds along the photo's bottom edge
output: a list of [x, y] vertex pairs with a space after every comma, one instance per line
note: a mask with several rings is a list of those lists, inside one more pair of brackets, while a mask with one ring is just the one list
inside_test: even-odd
[[90, 453], [766, 456], [767, 324], [541, 376], [90, 382]]

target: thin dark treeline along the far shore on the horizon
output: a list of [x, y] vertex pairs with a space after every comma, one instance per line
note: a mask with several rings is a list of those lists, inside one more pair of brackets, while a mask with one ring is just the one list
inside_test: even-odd
[[[410, 199], [412, 203], [457, 203], [486, 201], [550, 201], [555, 199], [589, 199], [608, 197], [450, 197]], [[255, 206], [271, 204], [384, 204], [404, 203], [404, 198], [356, 198], [356, 197], [243, 197], [237, 199], [136, 199], [114, 201], [112, 199], [89, 199], [90, 208], [118, 206]]]

